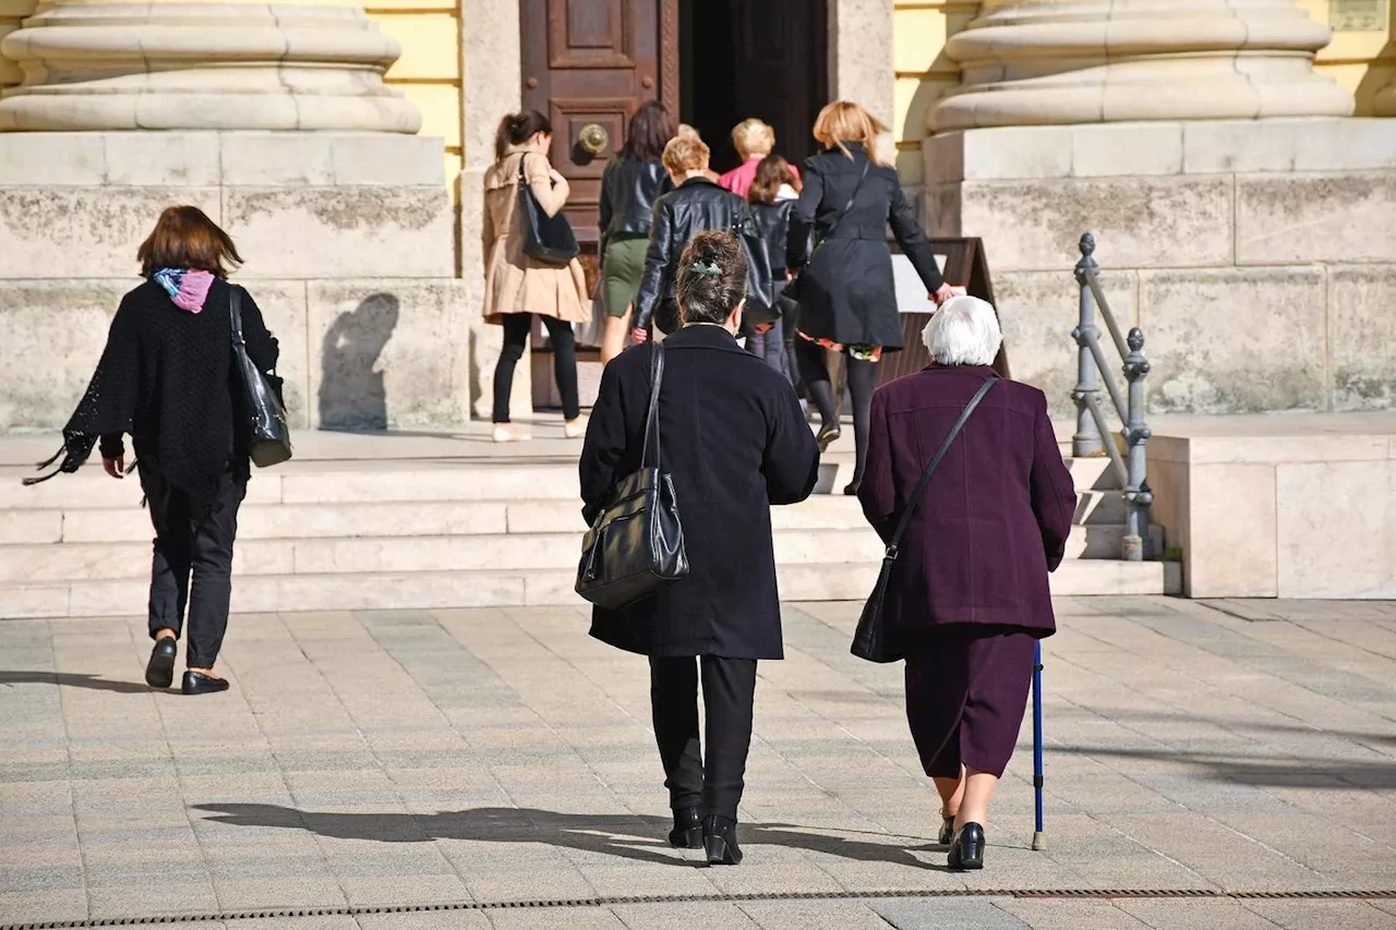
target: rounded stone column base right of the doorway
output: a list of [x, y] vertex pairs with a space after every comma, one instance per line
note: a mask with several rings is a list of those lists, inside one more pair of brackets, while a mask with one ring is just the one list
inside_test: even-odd
[[1293, 0], [986, 0], [931, 128], [1349, 116], [1329, 39]]

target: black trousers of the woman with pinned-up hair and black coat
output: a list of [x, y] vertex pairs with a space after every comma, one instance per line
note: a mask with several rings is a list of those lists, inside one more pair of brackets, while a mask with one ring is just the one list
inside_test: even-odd
[[[708, 714], [706, 754], [698, 737], [699, 667]], [[655, 739], [673, 810], [698, 807], [704, 817], [737, 820], [755, 695], [755, 659], [705, 655], [649, 660]]]

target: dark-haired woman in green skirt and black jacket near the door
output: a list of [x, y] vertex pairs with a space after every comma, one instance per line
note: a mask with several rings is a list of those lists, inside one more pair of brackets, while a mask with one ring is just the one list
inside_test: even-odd
[[674, 117], [663, 103], [641, 105], [630, 119], [620, 158], [602, 175], [600, 256], [602, 296], [606, 299], [602, 364], [625, 348], [625, 330], [645, 274], [655, 201], [674, 189], [662, 159], [676, 131]]

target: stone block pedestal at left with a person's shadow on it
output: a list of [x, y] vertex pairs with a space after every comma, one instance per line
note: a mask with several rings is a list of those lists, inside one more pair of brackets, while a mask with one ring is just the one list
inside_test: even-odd
[[[296, 426], [469, 420], [472, 316], [441, 140], [383, 133], [0, 134], [0, 433], [61, 426], [135, 249], [194, 204], [237, 242]], [[477, 314], [477, 307], [472, 307]]]

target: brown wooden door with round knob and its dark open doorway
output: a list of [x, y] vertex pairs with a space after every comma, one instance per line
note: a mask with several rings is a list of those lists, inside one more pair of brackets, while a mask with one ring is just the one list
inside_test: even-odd
[[826, 99], [826, 0], [519, 0], [524, 106], [553, 123], [554, 168], [572, 186], [568, 219], [597, 239], [602, 172], [630, 117], [662, 101], [730, 168], [732, 127], [771, 123], [778, 151], [810, 154]]

